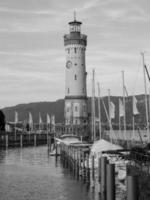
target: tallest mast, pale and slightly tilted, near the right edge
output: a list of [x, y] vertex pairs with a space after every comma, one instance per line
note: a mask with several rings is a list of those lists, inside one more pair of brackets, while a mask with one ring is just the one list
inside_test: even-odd
[[145, 90], [145, 109], [146, 109], [147, 137], [148, 137], [148, 141], [150, 142], [149, 122], [148, 122], [148, 105], [147, 105], [147, 85], [146, 85], [144, 52], [142, 52], [141, 55], [142, 55], [142, 60], [143, 60], [143, 76], [144, 76], [144, 90]]

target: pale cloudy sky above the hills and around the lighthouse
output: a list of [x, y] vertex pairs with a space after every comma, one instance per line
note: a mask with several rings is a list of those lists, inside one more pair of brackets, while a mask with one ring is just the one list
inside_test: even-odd
[[0, 0], [0, 108], [64, 98], [63, 36], [74, 10], [88, 36], [88, 96], [92, 69], [101, 96], [108, 89], [122, 95], [122, 71], [128, 94], [144, 93], [141, 52], [149, 69], [149, 0]]

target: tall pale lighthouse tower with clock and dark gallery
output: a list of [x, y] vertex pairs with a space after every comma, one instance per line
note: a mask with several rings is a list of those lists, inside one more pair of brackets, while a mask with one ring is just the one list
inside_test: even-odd
[[69, 22], [70, 32], [64, 35], [66, 52], [65, 68], [65, 125], [86, 127], [87, 91], [85, 50], [87, 36], [81, 34], [81, 22]]

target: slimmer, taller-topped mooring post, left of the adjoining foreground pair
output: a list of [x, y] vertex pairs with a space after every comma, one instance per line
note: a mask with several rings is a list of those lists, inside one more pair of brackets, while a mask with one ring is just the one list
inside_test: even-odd
[[100, 192], [103, 200], [106, 200], [106, 164], [107, 158], [101, 157], [101, 185]]

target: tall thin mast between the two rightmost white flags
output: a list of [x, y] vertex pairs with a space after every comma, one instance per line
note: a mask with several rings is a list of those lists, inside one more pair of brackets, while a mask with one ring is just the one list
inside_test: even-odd
[[123, 122], [124, 122], [124, 139], [126, 140], [126, 105], [125, 105], [125, 84], [124, 84], [124, 71], [122, 71], [122, 86], [123, 86]]

